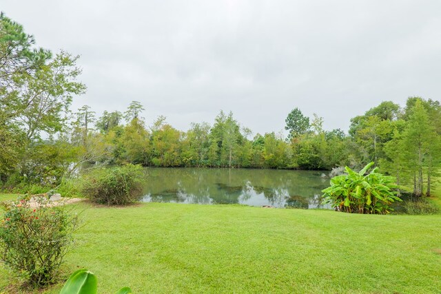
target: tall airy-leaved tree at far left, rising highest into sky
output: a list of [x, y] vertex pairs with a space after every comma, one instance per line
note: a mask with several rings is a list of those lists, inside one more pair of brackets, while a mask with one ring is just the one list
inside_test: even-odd
[[52, 58], [49, 50], [33, 45], [21, 25], [0, 15], [0, 141], [6, 152], [0, 170], [8, 173], [28, 160], [28, 147], [43, 132], [53, 136], [65, 130], [73, 96], [85, 92], [76, 81], [77, 56], [61, 51]]

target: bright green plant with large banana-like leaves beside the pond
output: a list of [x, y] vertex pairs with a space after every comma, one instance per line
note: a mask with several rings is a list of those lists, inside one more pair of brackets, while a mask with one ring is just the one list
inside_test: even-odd
[[331, 187], [322, 190], [324, 203], [338, 211], [349, 213], [389, 213], [391, 204], [402, 201], [396, 196], [393, 177], [384, 176], [372, 169], [373, 162], [358, 173], [345, 167], [347, 174], [331, 178]]

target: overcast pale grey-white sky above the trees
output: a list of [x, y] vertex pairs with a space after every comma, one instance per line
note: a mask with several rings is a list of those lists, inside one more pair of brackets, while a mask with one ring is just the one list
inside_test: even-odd
[[440, 0], [0, 0], [37, 45], [81, 55], [73, 108], [145, 106], [178, 129], [220, 109], [279, 132], [294, 107], [345, 131], [381, 101], [441, 98]]

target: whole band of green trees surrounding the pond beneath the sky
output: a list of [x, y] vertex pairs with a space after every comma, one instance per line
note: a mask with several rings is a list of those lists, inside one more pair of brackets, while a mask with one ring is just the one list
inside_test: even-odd
[[[18, 23], [0, 16], [0, 180], [57, 185], [85, 165], [133, 163], [154, 167], [360, 169], [373, 161], [430, 195], [441, 158], [439, 101], [410, 97], [404, 107], [384, 101], [351, 118], [347, 133], [323, 129], [323, 118], [294, 108], [285, 120], [289, 135], [252, 134], [232, 112], [180, 131], [159, 116], [152, 125], [144, 106], [99, 117], [88, 105], [70, 111], [83, 94], [78, 57], [35, 48]], [[148, 106], [148, 105], [147, 105]]]

